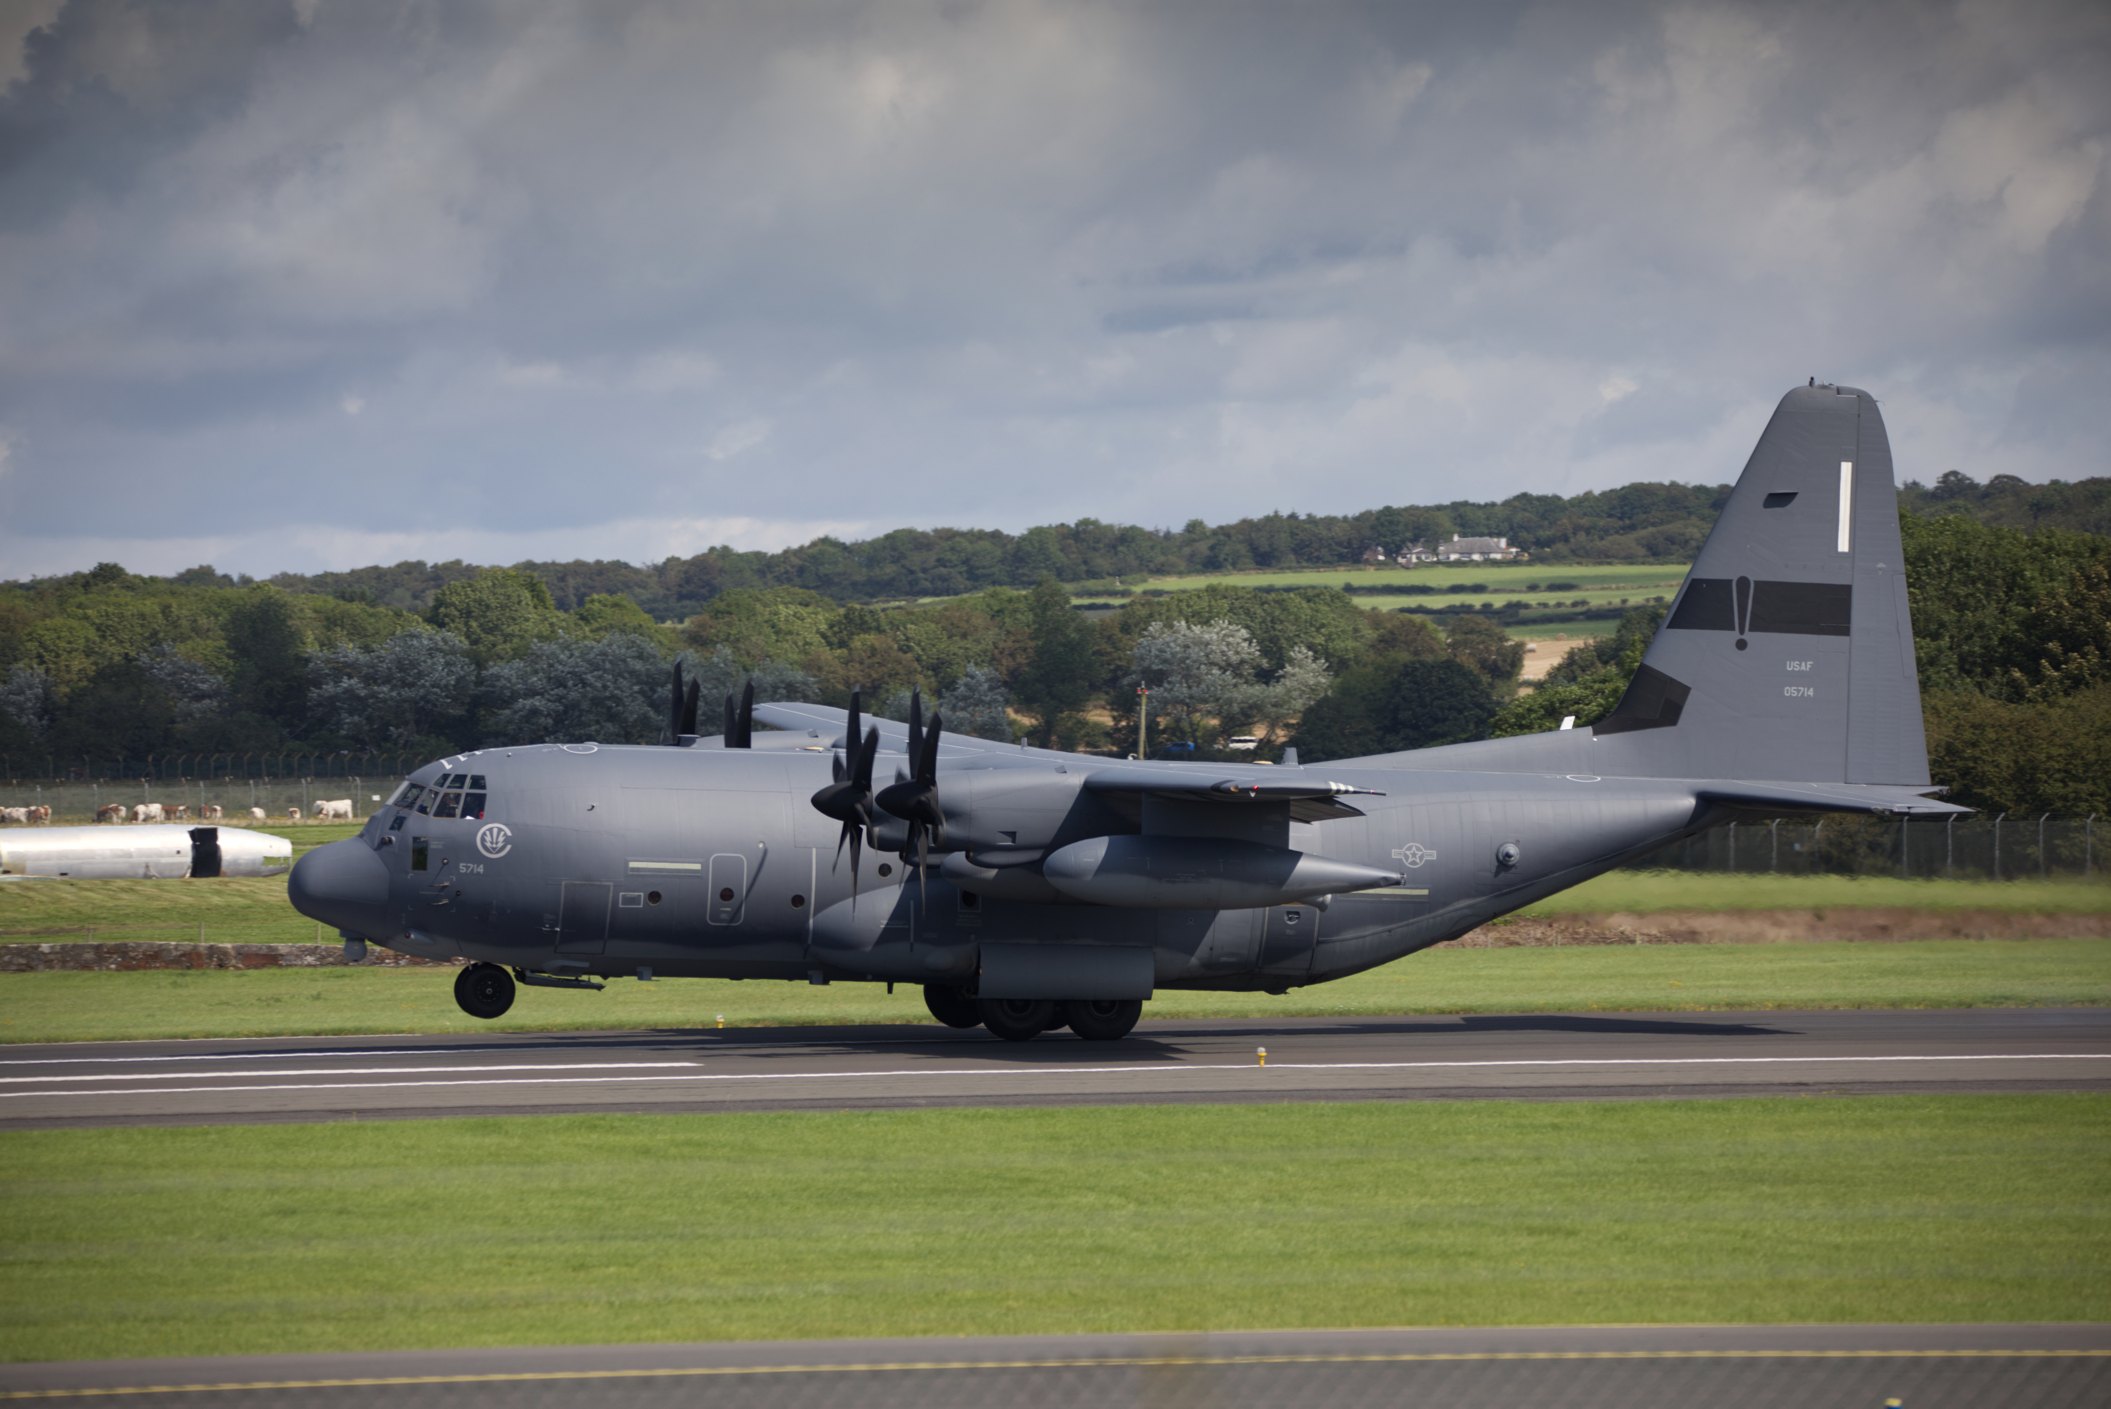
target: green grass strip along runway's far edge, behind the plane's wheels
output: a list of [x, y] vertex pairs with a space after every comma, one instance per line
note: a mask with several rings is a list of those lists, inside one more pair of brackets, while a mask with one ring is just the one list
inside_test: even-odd
[[[616, 979], [602, 993], [521, 989], [496, 1023], [454, 1004], [452, 968], [224, 968], [0, 974], [0, 1042], [369, 1031], [591, 1031], [929, 1023], [885, 985]], [[2111, 1004], [2111, 941], [1883, 945], [1590, 945], [1431, 949], [1338, 983], [1267, 993], [1161, 989], [1144, 1019], [1391, 1012], [1682, 1012], [1708, 1008], [2029, 1008]]]

